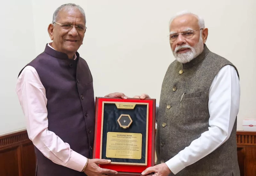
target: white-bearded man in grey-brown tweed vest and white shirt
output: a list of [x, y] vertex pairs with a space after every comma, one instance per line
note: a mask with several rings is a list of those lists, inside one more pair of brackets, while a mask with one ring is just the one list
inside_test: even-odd
[[209, 51], [205, 45], [208, 29], [199, 16], [181, 12], [170, 20], [169, 29], [176, 60], [164, 76], [157, 108], [157, 165], [141, 174], [239, 176], [238, 71]]

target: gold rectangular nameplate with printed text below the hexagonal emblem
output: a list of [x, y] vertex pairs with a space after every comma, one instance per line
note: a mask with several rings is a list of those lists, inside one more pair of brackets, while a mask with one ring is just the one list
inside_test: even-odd
[[108, 132], [106, 157], [141, 159], [142, 134]]

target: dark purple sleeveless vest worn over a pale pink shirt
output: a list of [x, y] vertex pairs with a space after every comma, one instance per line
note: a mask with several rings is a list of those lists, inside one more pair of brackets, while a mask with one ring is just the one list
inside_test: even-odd
[[[44, 85], [48, 129], [77, 153], [92, 158], [95, 118], [92, 75], [78, 52], [76, 56], [76, 60], [68, 59], [65, 53], [46, 45], [44, 52], [27, 66], [36, 69]], [[35, 152], [37, 176], [85, 176], [82, 172], [53, 163], [36, 147]]]

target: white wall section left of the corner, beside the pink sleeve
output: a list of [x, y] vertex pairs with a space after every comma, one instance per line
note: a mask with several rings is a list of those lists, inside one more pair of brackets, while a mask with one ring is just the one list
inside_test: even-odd
[[1, 1], [0, 134], [25, 128], [15, 86], [20, 69], [36, 54], [30, 0]]

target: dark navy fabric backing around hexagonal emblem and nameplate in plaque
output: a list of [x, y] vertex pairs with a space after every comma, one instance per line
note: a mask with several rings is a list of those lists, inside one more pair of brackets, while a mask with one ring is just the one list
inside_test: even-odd
[[[128, 114], [132, 118], [129, 128], [119, 126], [117, 119], [121, 114]], [[146, 132], [147, 132], [147, 105], [137, 104], [134, 109], [117, 109], [115, 104], [104, 103], [102, 134], [102, 159], [111, 159], [111, 162], [146, 163]], [[142, 134], [141, 159], [108, 158], [106, 157], [107, 132], [131, 132]]]

